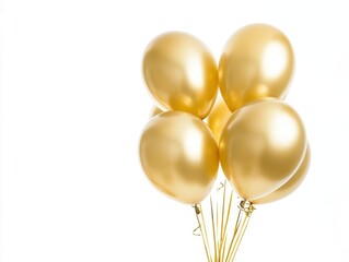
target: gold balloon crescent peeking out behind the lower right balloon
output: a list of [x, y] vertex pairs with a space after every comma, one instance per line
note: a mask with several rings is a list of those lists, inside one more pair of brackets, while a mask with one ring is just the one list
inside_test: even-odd
[[289, 181], [287, 181], [283, 186], [275, 190], [274, 192], [267, 194], [266, 196], [263, 196], [261, 199], [254, 200], [254, 204], [266, 204], [270, 203], [280, 199], [283, 199], [284, 196], [288, 196], [294, 190], [299, 188], [299, 186], [303, 182], [309, 167], [311, 165], [311, 150], [310, 146], [307, 145], [305, 156], [302, 160], [301, 166], [299, 169], [295, 171], [295, 174], [290, 178]]

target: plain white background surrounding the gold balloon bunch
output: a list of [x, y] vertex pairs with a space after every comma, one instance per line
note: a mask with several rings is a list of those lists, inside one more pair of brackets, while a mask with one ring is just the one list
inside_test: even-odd
[[301, 188], [258, 206], [237, 261], [349, 261], [349, 3], [326, 1], [2, 0], [0, 261], [205, 261], [193, 210], [158, 192], [138, 159], [152, 99], [148, 43], [202, 39], [217, 60], [239, 27], [290, 38], [287, 102], [312, 167]]

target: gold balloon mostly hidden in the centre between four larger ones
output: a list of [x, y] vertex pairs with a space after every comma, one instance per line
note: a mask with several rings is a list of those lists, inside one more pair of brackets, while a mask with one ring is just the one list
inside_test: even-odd
[[212, 111], [207, 118], [207, 124], [211, 129], [214, 139], [218, 143], [221, 139], [221, 134], [223, 133], [225, 124], [231, 116], [232, 112], [229, 110], [225, 103], [222, 99], [217, 100], [212, 108]]

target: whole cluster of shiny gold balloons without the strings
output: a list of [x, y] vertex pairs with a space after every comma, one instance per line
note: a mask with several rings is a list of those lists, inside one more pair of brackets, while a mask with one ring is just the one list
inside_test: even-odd
[[143, 76], [160, 108], [140, 140], [150, 181], [195, 205], [210, 193], [220, 163], [252, 204], [293, 192], [306, 175], [310, 148], [300, 116], [281, 100], [292, 72], [291, 44], [270, 25], [233, 34], [218, 67], [196, 37], [158, 36], [143, 57]]

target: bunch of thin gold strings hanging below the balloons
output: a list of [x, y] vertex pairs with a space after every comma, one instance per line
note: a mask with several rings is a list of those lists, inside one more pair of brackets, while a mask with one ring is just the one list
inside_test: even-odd
[[[206, 257], [209, 262], [232, 262], [235, 259], [241, 240], [245, 234], [254, 206], [241, 201], [228, 189], [226, 181], [221, 182], [217, 192], [211, 193], [203, 204], [194, 206], [198, 227], [193, 231], [201, 236]], [[208, 211], [203, 209], [207, 207]]]

